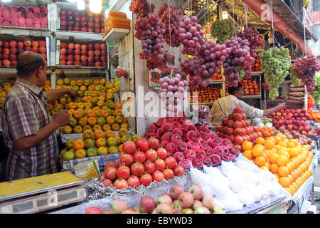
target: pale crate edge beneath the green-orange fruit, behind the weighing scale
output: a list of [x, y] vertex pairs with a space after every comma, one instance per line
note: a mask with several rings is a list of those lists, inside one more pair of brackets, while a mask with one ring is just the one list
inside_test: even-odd
[[75, 165], [79, 164], [80, 162], [87, 162], [90, 160], [97, 160], [99, 164], [99, 169], [102, 170], [105, 167], [105, 164], [109, 161], [118, 162], [119, 161], [120, 153], [109, 154], [109, 155], [99, 155], [95, 157], [84, 157], [80, 159], [74, 159], [69, 161], [64, 161], [62, 157], [59, 156], [59, 162], [63, 169], [63, 171], [73, 171]]

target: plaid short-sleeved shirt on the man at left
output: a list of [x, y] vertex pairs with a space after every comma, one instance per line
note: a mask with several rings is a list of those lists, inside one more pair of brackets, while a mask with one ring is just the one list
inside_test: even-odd
[[4, 143], [9, 148], [6, 179], [17, 180], [57, 172], [58, 141], [54, 132], [40, 144], [18, 150], [15, 141], [38, 131], [52, 121], [47, 95], [41, 88], [18, 78], [4, 100], [2, 129]]

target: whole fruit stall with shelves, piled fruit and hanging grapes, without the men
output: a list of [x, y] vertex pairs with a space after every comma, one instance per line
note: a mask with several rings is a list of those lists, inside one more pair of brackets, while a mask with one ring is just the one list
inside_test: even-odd
[[[58, 173], [6, 182], [0, 157], [1, 214], [309, 212], [319, 57], [240, 0], [91, 1], [0, 3], [1, 105], [23, 51], [46, 59], [43, 92], [78, 93], [47, 105], [70, 115]], [[212, 128], [213, 103], [238, 83], [245, 103], [287, 108], [255, 118], [235, 107]]]

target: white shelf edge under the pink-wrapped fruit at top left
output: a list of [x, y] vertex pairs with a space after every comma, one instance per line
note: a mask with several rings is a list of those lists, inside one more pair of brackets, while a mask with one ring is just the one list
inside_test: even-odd
[[1, 35], [10, 36], [50, 36], [50, 30], [48, 28], [22, 28], [11, 26], [0, 26]]

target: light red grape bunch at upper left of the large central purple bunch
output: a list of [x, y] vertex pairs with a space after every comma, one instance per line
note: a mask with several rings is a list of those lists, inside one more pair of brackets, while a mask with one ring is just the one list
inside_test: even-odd
[[179, 28], [179, 38], [183, 44], [181, 53], [183, 55], [198, 56], [201, 45], [206, 43], [202, 38], [204, 34], [202, 26], [196, 23], [198, 20], [196, 16], [189, 18], [183, 15], [181, 19]]

